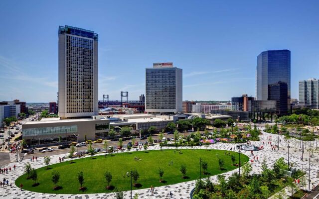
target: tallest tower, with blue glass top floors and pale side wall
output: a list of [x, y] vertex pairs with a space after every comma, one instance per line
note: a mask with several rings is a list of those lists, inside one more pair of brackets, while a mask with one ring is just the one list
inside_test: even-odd
[[98, 115], [98, 34], [59, 26], [59, 116]]

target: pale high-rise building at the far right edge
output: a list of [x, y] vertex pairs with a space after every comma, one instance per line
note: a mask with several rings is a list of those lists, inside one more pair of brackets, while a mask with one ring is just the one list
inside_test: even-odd
[[299, 104], [319, 109], [319, 81], [311, 78], [299, 81]]

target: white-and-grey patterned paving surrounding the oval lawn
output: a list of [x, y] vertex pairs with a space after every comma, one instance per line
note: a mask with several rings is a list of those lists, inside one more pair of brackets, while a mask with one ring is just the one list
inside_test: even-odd
[[[268, 140], [269, 136], [272, 135], [272, 140]], [[279, 150], [272, 151], [270, 144], [267, 144], [269, 141], [272, 142], [272, 144], [277, 144], [278, 135], [265, 133], [263, 132], [263, 135], [260, 136], [260, 141], [252, 141], [253, 145], [256, 146], [264, 146], [263, 150], [255, 151], [254, 155], [252, 156], [250, 154], [250, 151], [241, 151], [241, 153], [247, 155], [250, 159], [254, 159], [254, 156], [258, 156], [259, 160], [255, 160], [254, 163], [252, 163], [253, 166], [253, 174], [260, 174], [261, 173], [261, 163], [264, 158], [266, 158], [268, 167], [272, 167], [274, 162], [279, 159], [280, 157], [284, 157], [286, 161], [288, 161], [288, 143], [285, 141], [284, 136], [279, 136], [279, 139], [281, 142], [279, 142]], [[263, 144], [264, 142], [264, 144]], [[308, 143], [307, 143], [308, 144]], [[209, 149], [221, 149], [221, 150], [230, 150], [230, 148], [235, 147], [237, 144], [226, 144], [226, 143], [217, 143], [213, 145], [209, 145]], [[307, 171], [307, 179], [308, 179], [308, 160], [309, 153], [305, 150], [304, 153], [304, 160], [301, 161], [301, 152], [300, 149], [300, 141], [291, 139], [290, 140], [290, 149], [289, 149], [289, 161], [294, 163], [294, 167], [297, 167], [297, 169], [302, 169], [304, 171]], [[318, 151], [316, 151], [316, 141], [311, 142], [311, 146], [313, 149], [315, 149], [314, 158], [312, 158], [312, 161], [310, 162], [310, 180], [311, 185], [310, 188], [312, 189], [313, 183], [316, 186], [319, 183], [319, 179], [317, 178], [317, 171], [319, 170], [319, 162], [316, 161], [316, 159], [319, 157]], [[296, 151], [295, 147], [297, 148]], [[178, 147], [178, 148], [190, 148], [190, 147]], [[193, 147], [194, 149], [205, 149], [205, 146], [196, 146]], [[307, 149], [309, 146], [307, 145]], [[159, 150], [160, 147], [158, 145], [151, 146], [148, 150]], [[163, 149], [172, 149], [172, 147], [163, 147]], [[238, 149], [236, 148], [236, 151], [238, 152]], [[97, 155], [103, 155], [103, 154], [97, 154]], [[62, 155], [53, 155], [51, 156], [51, 164], [55, 164], [59, 162], [59, 157], [62, 157]], [[198, 157], [198, 161], [199, 161]], [[40, 168], [44, 167], [43, 157], [38, 158], [37, 161], [30, 162], [29, 159], [24, 159], [22, 162], [16, 163], [12, 162], [10, 164], [7, 164], [3, 166], [2, 168], [11, 167], [13, 168], [13, 165], [16, 165], [16, 170], [13, 169], [11, 172], [8, 172], [8, 174], [0, 174], [0, 180], [3, 178], [7, 179], [9, 181], [9, 184], [12, 183], [12, 188], [10, 186], [0, 188], [0, 198], [1, 199], [114, 199], [113, 193], [100, 193], [100, 194], [61, 194], [61, 195], [54, 195], [54, 194], [42, 194], [42, 193], [34, 193], [29, 192], [25, 190], [20, 190], [17, 188], [14, 184], [14, 181], [23, 174], [23, 168], [24, 165], [29, 162], [32, 166], [32, 168]], [[238, 169], [235, 169], [233, 171], [229, 171], [224, 173], [224, 175], [229, 177], [233, 172], [238, 172]], [[217, 176], [212, 176], [211, 179], [213, 182], [217, 182], [216, 180]], [[194, 188], [195, 181], [189, 181], [184, 183], [178, 183], [174, 185], [168, 185], [168, 186], [162, 186], [162, 187], [156, 187], [154, 196], [151, 196], [150, 189], [141, 189], [141, 190], [135, 190], [133, 191], [133, 196], [135, 193], [139, 194], [139, 199], [166, 199], [169, 198], [169, 193], [172, 192], [175, 199], [189, 199], [190, 198], [190, 192]], [[48, 186], [52, 186], [52, 182], [48, 182]], [[308, 189], [308, 184], [305, 187]], [[130, 191], [125, 192], [126, 199], [130, 198]]]

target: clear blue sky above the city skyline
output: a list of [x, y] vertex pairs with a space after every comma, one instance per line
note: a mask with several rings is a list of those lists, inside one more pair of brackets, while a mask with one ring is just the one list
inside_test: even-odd
[[[90, 4], [88, 4], [90, 2]], [[291, 50], [291, 93], [319, 78], [319, 1], [0, 1], [0, 100], [56, 100], [58, 26], [99, 34], [99, 99], [145, 93], [145, 68], [183, 69], [183, 100], [255, 96], [256, 57]]]

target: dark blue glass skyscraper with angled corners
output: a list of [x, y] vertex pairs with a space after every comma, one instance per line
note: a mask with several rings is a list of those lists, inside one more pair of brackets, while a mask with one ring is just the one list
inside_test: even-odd
[[276, 100], [278, 115], [290, 113], [289, 50], [268, 50], [257, 56], [256, 99]]

